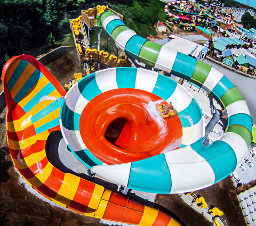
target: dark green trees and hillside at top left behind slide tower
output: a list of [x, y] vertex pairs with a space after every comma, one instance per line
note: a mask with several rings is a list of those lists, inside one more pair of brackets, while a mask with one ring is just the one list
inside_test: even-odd
[[[154, 34], [154, 24], [166, 20], [165, 3], [159, 0], [6, 0], [0, 1], [0, 64], [6, 56], [31, 53], [42, 45], [53, 45], [60, 34], [71, 32], [69, 19], [81, 10], [108, 4], [124, 15], [127, 26], [143, 37]], [[165, 22], [165, 21], [164, 21]], [[63, 30], [66, 24], [67, 30]], [[35, 54], [36, 55], [36, 54]]]

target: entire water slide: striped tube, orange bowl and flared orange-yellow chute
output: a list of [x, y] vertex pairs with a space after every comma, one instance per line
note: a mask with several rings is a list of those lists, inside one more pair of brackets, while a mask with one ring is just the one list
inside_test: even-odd
[[[135, 203], [73, 174], [61, 172], [47, 159], [47, 137], [52, 131], [62, 130], [69, 149], [91, 168], [92, 173], [128, 188], [163, 194], [197, 190], [226, 178], [245, 157], [252, 141], [252, 118], [246, 101], [223, 74], [193, 57], [142, 38], [125, 26], [115, 13], [103, 12], [100, 21], [125, 54], [193, 82], [217, 99], [227, 119], [224, 135], [212, 145], [203, 146], [203, 118], [195, 99], [170, 78], [156, 72], [131, 68], [106, 69], [80, 80], [66, 94], [41, 63], [34, 57], [22, 55], [12, 57], [5, 64], [2, 77], [8, 108], [7, 137], [13, 162], [27, 182], [42, 195], [85, 215], [139, 225], [179, 225], [157, 209]], [[134, 94], [137, 90], [139, 93]], [[114, 106], [109, 106], [113, 94], [118, 98], [114, 99]], [[138, 101], [131, 102], [131, 96], [136, 96]], [[101, 102], [105, 97], [109, 108], [104, 112], [102, 109], [106, 106]], [[161, 150], [166, 146], [163, 139], [162, 146], [158, 146], [159, 154], [147, 147], [142, 153], [144, 156], [138, 156], [140, 150], [130, 156], [126, 147], [121, 153], [119, 149], [122, 148], [118, 147], [129, 146], [130, 143], [136, 147], [134, 140], [137, 137], [141, 140], [143, 135], [149, 139], [156, 136], [147, 135], [151, 132], [149, 129], [144, 128], [141, 130], [143, 133], [139, 133], [138, 129], [143, 127], [144, 120], [146, 125], [150, 121], [159, 130], [159, 122], [151, 121], [154, 112], [149, 111], [147, 105], [153, 103], [156, 108], [157, 104], [165, 101], [173, 103], [178, 115], [163, 124], [169, 129], [169, 124], [173, 123], [168, 124], [168, 121], [176, 120], [177, 128], [174, 129], [178, 133], [182, 130], [182, 137], [172, 139], [171, 147]], [[92, 132], [95, 129], [83, 129], [84, 122], [90, 121], [89, 116], [99, 116], [99, 122], [95, 121], [95, 125], [99, 123], [96, 134]], [[142, 120], [141, 125], [137, 124], [137, 116]], [[110, 162], [107, 164], [91, 147], [99, 145], [105, 148], [107, 135], [104, 131], [110, 122], [118, 119], [125, 119], [119, 121], [124, 127], [120, 132], [113, 124], [114, 129], [109, 131], [108, 139], [114, 139], [114, 132], [117, 131], [117, 145], [112, 144], [117, 154], [109, 156], [111, 149], [108, 149], [105, 158]], [[93, 125], [87, 126], [90, 129]], [[87, 144], [87, 136], [100, 139], [89, 140]], [[129, 140], [128, 144], [126, 140]], [[119, 153], [124, 156], [123, 160], [118, 159], [121, 156]], [[126, 156], [130, 162], [124, 162]]]

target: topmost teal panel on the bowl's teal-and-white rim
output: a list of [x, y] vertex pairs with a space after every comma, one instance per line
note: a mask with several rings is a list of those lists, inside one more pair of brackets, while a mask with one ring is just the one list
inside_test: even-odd
[[118, 88], [135, 88], [137, 68], [116, 68]]

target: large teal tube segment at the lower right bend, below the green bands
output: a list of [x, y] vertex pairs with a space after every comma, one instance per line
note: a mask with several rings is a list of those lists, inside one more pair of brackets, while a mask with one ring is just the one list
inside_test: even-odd
[[236, 154], [224, 141], [217, 140], [212, 145], [205, 147], [202, 140], [203, 138], [191, 145], [191, 148], [211, 165], [215, 174], [214, 183], [218, 183], [236, 169]]

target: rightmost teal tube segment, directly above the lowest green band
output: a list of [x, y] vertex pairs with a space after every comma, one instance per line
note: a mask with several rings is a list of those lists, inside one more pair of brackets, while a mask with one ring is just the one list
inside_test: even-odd
[[251, 115], [242, 114], [242, 113], [231, 115], [226, 120], [227, 127], [229, 127], [229, 125], [234, 125], [234, 124], [243, 125], [247, 129], [249, 129], [251, 132], [252, 132], [252, 123], [253, 123], [253, 120]]

